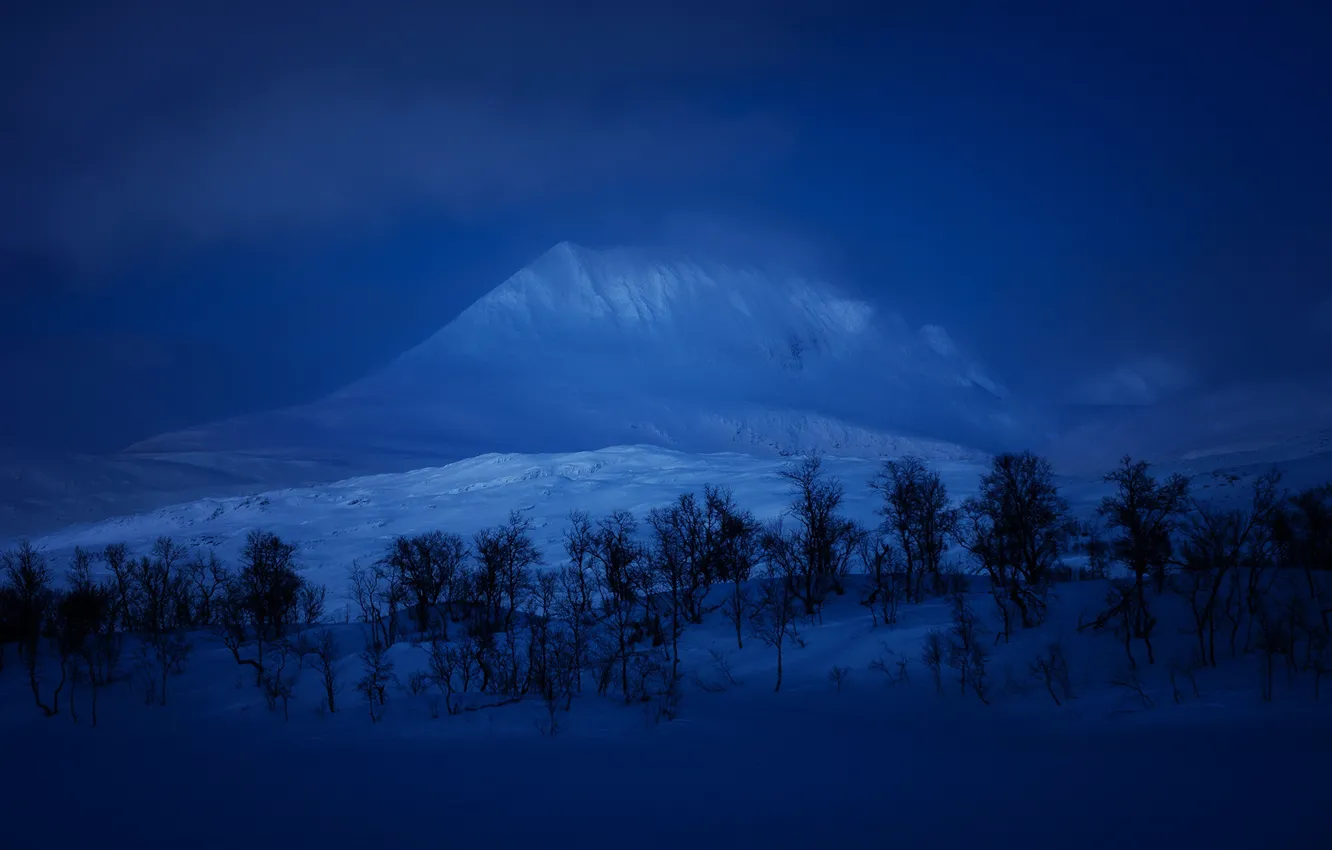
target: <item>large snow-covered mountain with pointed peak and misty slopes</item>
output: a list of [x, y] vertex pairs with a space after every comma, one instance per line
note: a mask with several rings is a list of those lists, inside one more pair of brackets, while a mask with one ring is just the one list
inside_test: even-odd
[[956, 457], [1022, 433], [1008, 393], [943, 328], [914, 330], [794, 274], [562, 242], [321, 401], [136, 449], [452, 460], [651, 444]]

